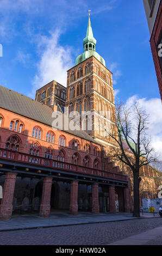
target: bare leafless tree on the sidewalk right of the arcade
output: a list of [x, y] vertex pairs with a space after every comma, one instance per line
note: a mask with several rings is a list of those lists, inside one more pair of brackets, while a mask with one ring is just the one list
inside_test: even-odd
[[131, 106], [116, 105], [116, 120], [109, 134], [116, 143], [110, 150], [110, 158], [123, 162], [133, 172], [134, 217], [140, 217], [140, 169], [155, 161], [151, 139], [147, 135], [148, 120], [138, 102]]

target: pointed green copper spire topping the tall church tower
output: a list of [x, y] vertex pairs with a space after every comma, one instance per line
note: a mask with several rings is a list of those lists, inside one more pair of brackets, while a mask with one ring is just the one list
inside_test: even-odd
[[99, 60], [99, 62], [101, 62], [105, 66], [104, 59], [96, 52], [96, 39], [94, 38], [94, 34], [92, 32], [90, 14], [88, 19], [86, 37], [83, 40], [83, 46], [84, 46], [84, 53], [80, 54], [76, 58], [76, 65], [83, 62], [85, 59], [88, 59], [91, 56], [94, 56], [96, 59]]

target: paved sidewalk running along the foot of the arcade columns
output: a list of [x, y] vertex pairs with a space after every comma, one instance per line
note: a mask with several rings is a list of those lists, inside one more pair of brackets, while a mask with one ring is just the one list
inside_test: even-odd
[[[141, 214], [141, 218], [157, 218], [159, 214]], [[42, 218], [39, 214], [28, 215], [13, 215], [11, 220], [0, 220], [0, 231], [33, 229], [33, 228], [47, 228], [60, 227], [65, 225], [80, 225], [90, 223], [126, 221], [138, 219], [132, 217], [132, 213], [119, 214], [92, 214], [91, 212], [79, 212], [78, 215], [73, 216], [68, 211], [55, 210], [51, 212], [48, 218]]]

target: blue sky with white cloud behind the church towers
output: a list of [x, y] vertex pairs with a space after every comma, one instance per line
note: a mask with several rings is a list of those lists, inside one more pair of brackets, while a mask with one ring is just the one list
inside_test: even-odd
[[[115, 99], [141, 99], [154, 115], [160, 95], [141, 0], [0, 0], [0, 84], [31, 97], [52, 80], [66, 86], [66, 71], [83, 52], [89, 9], [96, 51], [114, 74]], [[155, 137], [162, 144], [160, 128]]]

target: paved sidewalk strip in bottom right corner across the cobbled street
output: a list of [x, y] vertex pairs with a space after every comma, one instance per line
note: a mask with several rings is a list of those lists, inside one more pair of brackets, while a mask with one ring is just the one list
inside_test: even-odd
[[118, 240], [108, 245], [146, 245], [152, 240], [157, 240], [162, 235], [162, 226], [127, 237], [126, 239]]

